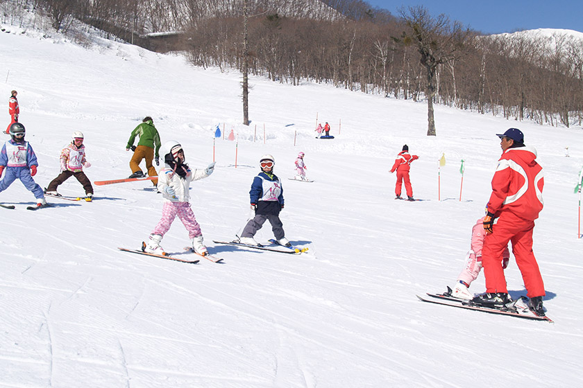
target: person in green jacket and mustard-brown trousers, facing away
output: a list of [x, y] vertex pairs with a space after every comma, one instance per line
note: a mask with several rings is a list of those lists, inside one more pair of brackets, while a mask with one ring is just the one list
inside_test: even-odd
[[[137, 142], [137, 147], [133, 145], [135, 136], [140, 137], [140, 141]], [[126, 151], [129, 151], [130, 148], [133, 150], [134, 155], [130, 160], [132, 175], [129, 177], [142, 178], [146, 176], [140, 168], [142, 159], [146, 159], [148, 175], [158, 177], [158, 173], [152, 165], [152, 160], [155, 158], [156, 166], [160, 166], [160, 156], [158, 155], [158, 151], [160, 151], [160, 134], [158, 134], [158, 130], [154, 127], [154, 122], [150, 116], [146, 116], [142, 120], [142, 123], [135, 127], [135, 130], [130, 134]], [[154, 186], [158, 185], [158, 179], [153, 179], [153, 184]]]

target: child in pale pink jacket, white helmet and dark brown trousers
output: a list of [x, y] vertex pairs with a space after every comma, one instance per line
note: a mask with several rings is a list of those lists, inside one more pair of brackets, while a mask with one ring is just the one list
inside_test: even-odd
[[91, 186], [87, 175], [83, 173], [83, 167], [91, 167], [91, 164], [85, 158], [84, 139], [83, 132], [73, 132], [71, 143], [61, 150], [59, 158], [61, 172], [58, 177], [51, 181], [45, 193], [60, 197], [60, 194], [57, 193], [57, 187], [70, 177], [75, 177], [85, 189], [85, 200], [90, 202], [93, 199], [93, 186]]

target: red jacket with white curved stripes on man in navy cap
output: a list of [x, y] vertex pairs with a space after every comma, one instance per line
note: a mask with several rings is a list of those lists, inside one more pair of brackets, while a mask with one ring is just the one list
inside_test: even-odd
[[543, 168], [532, 147], [508, 148], [498, 160], [492, 178], [488, 211], [499, 217], [510, 211], [527, 221], [539, 218], [543, 209]]

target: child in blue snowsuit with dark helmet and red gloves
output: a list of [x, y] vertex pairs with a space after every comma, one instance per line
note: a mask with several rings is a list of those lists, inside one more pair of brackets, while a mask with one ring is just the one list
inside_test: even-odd
[[4, 179], [0, 181], [0, 192], [5, 191], [16, 179], [20, 179], [24, 187], [35, 195], [37, 206], [43, 206], [47, 201], [44, 200], [42, 188], [33, 179], [38, 167], [37, 157], [28, 141], [24, 141], [25, 134], [26, 129], [21, 123], [10, 125], [12, 139], [6, 141], [0, 151], [0, 175], [6, 168]]

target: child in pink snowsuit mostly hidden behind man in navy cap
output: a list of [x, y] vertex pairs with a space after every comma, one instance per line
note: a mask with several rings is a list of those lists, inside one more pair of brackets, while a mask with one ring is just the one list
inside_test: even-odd
[[[484, 217], [482, 217], [475, 222], [475, 225], [472, 228], [471, 249], [466, 256], [466, 266], [464, 267], [464, 270], [462, 270], [462, 273], [457, 276], [455, 287], [451, 292], [453, 297], [461, 299], [473, 298], [473, 294], [469, 292], [468, 288], [475, 279], [478, 279], [478, 274], [480, 274], [480, 270], [482, 270], [482, 245], [484, 245], [485, 237], [486, 231], [484, 231]], [[502, 258], [502, 268], [506, 269], [510, 258], [508, 247], [504, 250]]]

